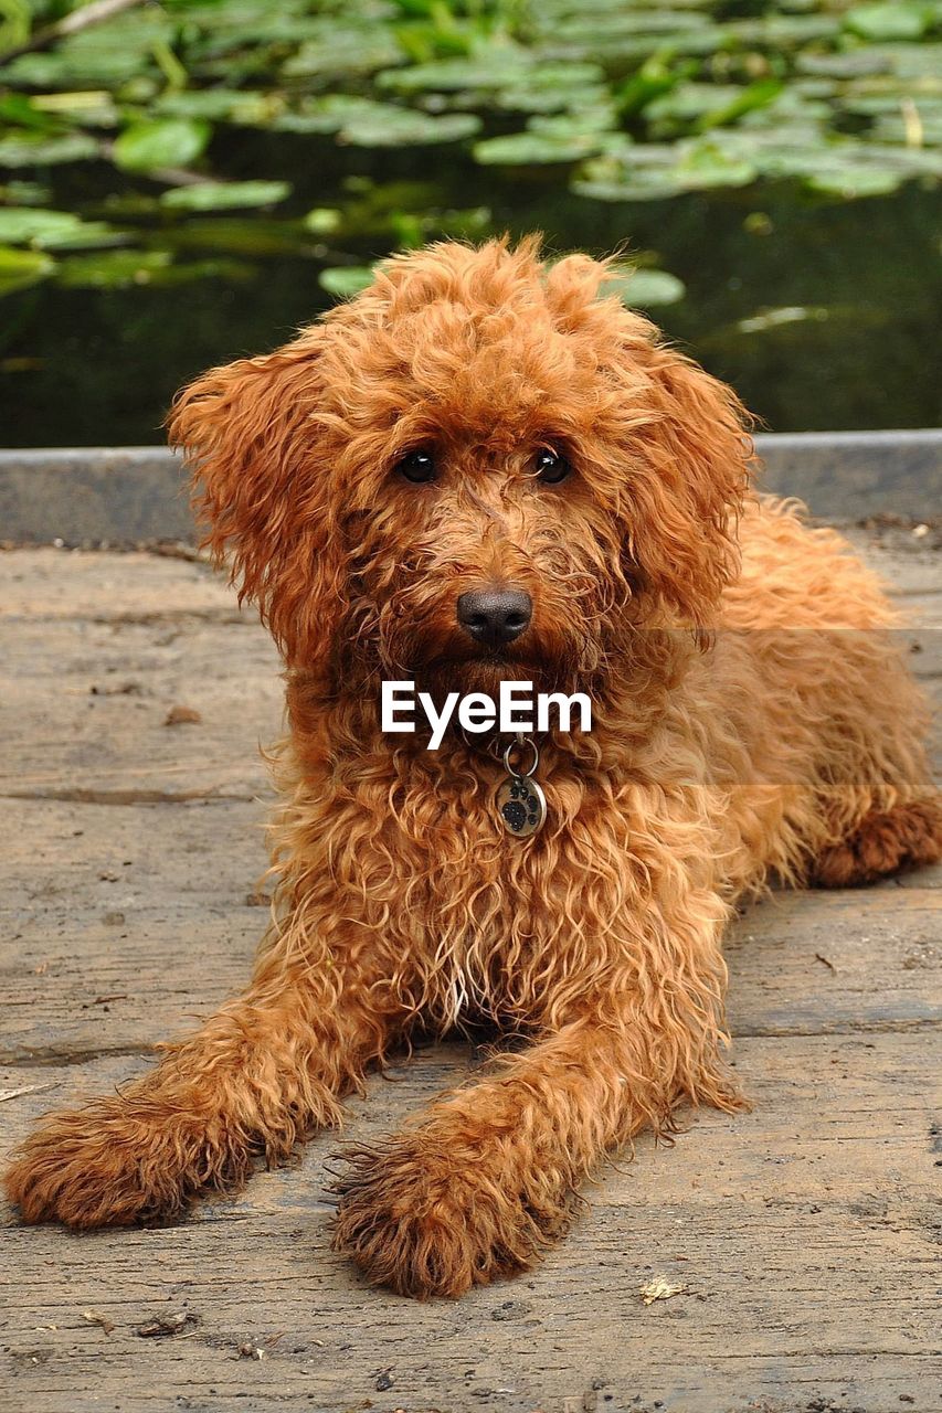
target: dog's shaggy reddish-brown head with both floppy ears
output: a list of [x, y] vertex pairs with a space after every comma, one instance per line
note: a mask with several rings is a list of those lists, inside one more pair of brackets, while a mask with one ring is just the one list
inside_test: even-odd
[[436, 244], [180, 394], [207, 543], [289, 664], [573, 690], [638, 629], [710, 623], [741, 408], [607, 278], [535, 240]]

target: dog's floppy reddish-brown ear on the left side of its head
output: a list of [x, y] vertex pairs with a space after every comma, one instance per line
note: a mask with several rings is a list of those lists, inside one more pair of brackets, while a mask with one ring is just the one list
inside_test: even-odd
[[322, 329], [209, 369], [177, 394], [170, 439], [192, 471], [202, 545], [228, 562], [289, 663], [330, 643], [344, 601], [332, 478], [318, 408]]

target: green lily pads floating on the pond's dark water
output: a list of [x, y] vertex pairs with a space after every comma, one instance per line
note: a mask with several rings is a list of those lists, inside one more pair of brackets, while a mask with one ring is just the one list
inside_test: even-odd
[[[300, 164], [330, 141], [427, 162], [443, 148], [438, 164], [523, 181], [550, 167], [594, 202], [772, 184], [850, 201], [942, 177], [942, 0], [110, 4], [85, 24], [100, 0], [0, 0], [0, 292], [74, 285], [62, 252], [78, 249], [102, 287], [201, 278], [198, 247], [242, 271], [315, 259], [344, 295], [364, 283], [349, 247], [365, 232], [389, 249], [492, 227], [485, 208], [434, 202], [304, 209], [310, 182], [252, 133], [300, 141]], [[215, 212], [239, 215], [194, 235]], [[625, 297], [665, 304], [683, 285]]]

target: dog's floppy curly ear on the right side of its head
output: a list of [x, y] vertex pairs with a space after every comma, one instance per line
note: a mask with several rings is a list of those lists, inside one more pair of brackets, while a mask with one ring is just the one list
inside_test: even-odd
[[[738, 517], [752, 442], [735, 393], [672, 348], [642, 360], [645, 424], [631, 475], [629, 550], [649, 586], [693, 626], [709, 626], [740, 567]], [[641, 528], [644, 527], [644, 530]]]

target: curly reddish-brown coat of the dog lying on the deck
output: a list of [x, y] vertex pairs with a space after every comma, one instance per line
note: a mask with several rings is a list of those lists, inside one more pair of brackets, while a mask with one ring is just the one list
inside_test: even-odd
[[[740, 1102], [737, 900], [939, 858], [878, 584], [754, 495], [734, 394], [608, 273], [533, 240], [433, 246], [177, 400], [207, 543], [287, 666], [279, 918], [243, 996], [27, 1140], [7, 1174], [27, 1221], [177, 1214], [339, 1123], [417, 1024], [487, 1017], [525, 1044], [349, 1154], [335, 1243], [416, 1296], [525, 1269], [603, 1154], [685, 1101]], [[395, 469], [419, 447], [429, 485]], [[540, 448], [570, 459], [562, 485], [533, 475]], [[455, 620], [489, 584], [535, 605], [499, 660]], [[543, 742], [540, 834], [505, 834], [481, 738], [382, 735], [379, 680], [406, 674], [591, 692], [593, 732]]]

